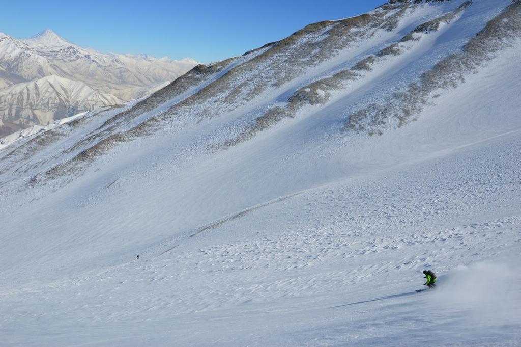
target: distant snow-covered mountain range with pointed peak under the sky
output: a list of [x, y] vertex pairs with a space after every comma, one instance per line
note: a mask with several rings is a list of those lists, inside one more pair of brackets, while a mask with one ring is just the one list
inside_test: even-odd
[[0, 33], [0, 136], [150, 94], [198, 63], [85, 49], [47, 29]]

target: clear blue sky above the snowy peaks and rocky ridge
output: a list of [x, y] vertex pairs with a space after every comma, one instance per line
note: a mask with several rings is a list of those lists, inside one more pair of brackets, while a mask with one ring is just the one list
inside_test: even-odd
[[50, 28], [102, 52], [190, 56], [209, 63], [280, 40], [309, 23], [355, 16], [386, 1], [6, 0], [0, 6], [0, 32], [24, 38]]

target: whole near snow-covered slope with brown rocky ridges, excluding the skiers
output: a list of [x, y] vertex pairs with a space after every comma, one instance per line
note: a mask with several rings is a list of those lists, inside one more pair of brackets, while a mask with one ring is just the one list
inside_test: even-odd
[[393, 1], [9, 142], [3, 343], [518, 345], [520, 34]]

